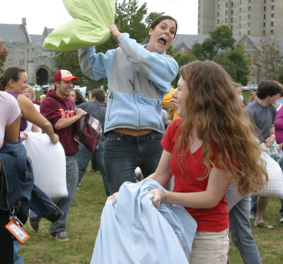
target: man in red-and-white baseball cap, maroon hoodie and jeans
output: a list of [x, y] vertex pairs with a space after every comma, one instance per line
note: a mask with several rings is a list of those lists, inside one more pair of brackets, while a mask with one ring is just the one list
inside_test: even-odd
[[[65, 229], [67, 216], [71, 202], [76, 194], [79, 172], [76, 153], [78, 152], [79, 143], [74, 140], [75, 122], [82, 115], [86, 114], [81, 108], [74, 111], [75, 103], [71, 100], [69, 94], [73, 88], [73, 81], [79, 78], [73, 76], [70, 71], [60, 69], [54, 74], [54, 90], [50, 90], [40, 105], [40, 113], [49, 120], [58, 134], [66, 154], [66, 180], [68, 196], [56, 201], [56, 205], [64, 212], [56, 222], [50, 226], [50, 234], [58, 241], [69, 240]], [[38, 231], [40, 217], [34, 212], [30, 213], [29, 224], [33, 231]]]

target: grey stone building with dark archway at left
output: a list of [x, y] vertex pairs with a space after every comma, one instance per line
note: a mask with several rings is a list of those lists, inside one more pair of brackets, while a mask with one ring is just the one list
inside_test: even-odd
[[42, 35], [28, 34], [26, 19], [20, 25], [0, 24], [0, 41], [8, 50], [3, 69], [16, 65], [28, 73], [28, 84], [47, 84], [51, 71], [56, 70], [56, 51], [47, 50], [43, 42], [52, 29], [46, 28]]

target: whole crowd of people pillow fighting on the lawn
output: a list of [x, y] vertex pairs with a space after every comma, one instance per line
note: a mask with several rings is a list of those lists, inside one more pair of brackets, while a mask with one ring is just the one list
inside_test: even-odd
[[[0, 79], [0, 146], [22, 142], [25, 132], [32, 131], [45, 132], [52, 144], [59, 141], [64, 148], [68, 196], [53, 200], [62, 215], [52, 221], [50, 235], [57, 241], [69, 240], [69, 209], [93, 159], [107, 202], [113, 205], [121, 185], [134, 182], [137, 167], [144, 178], [167, 186], [148, 195], [153, 195], [155, 207], [185, 207], [197, 222], [187, 256], [190, 263], [227, 263], [229, 232], [244, 263], [261, 263], [250, 217], [255, 218], [254, 226], [273, 226], [263, 220], [268, 197], [253, 196], [250, 210], [250, 194], [268, 181], [260, 144], [269, 148], [276, 139], [282, 151], [283, 108], [277, 99], [283, 96], [283, 86], [262, 81], [246, 105], [241, 84], [219, 64], [197, 61], [179, 70], [175, 59], [166, 55], [178, 29], [171, 16], [151, 23], [144, 45], [120, 33], [116, 25], [109, 29], [117, 49], [105, 54], [96, 53], [96, 47], [79, 50], [81, 71], [94, 80], [107, 78], [108, 95], [98, 88], [86, 100], [73, 89], [79, 78], [65, 69], [54, 74], [54, 87], [40, 101], [35, 100], [24, 69], [9, 67]], [[177, 88], [171, 90], [178, 72]], [[103, 129], [94, 151], [74, 138], [76, 122], [86, 114]], [[0, 171], [7, 173], [1, 164], [0, 156]], [[171, 181], [173, 187], [168, 185]], [[283, 200], [281, 204], [283, 223]], [[45, 216], [31, 209], [28, 224], [37, 232]], [[18, 241], [4, 227], [11, 211], [0, 207], [0, 215], [0, 241], [5, 245], [0, 247], [1, 258], [23, 263], [17, 256]]]

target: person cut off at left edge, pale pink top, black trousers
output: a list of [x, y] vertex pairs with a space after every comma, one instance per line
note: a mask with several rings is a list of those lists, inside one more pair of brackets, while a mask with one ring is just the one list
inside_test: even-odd
[[[2, 79], [0, 79], [2, 83]], [[2, 83], [3, 85], [3, 83]], [[21, 110], [13, 96], [4, 91], [0, 91], [0, 149], [6, 142], [18, 140], [20, 129]], [[0, 160], [0, 173], [2, 174]], [[1, 188], [2, 190], [2, 188]], [[10, 221], [10, 212], [0, 209], [0, 256], [1, 262], [6, 264], [13, 263], [13, 239], [12, 235], [5, 228]]]

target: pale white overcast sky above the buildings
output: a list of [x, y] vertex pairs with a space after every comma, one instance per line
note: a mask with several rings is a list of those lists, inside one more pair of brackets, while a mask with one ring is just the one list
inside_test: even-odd
[[[197, 0], [138, 0], [148, 12], [166, 12], [178, 21], [179, 34], [197, 34]], [[57, 28], [72, 18], [62, 0], [4, 0], [0, 23], [21, 24], [27, 18], [28, 33], [42, 34], [45, 26]]]

